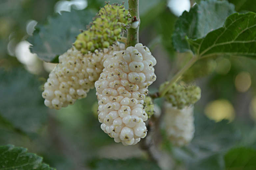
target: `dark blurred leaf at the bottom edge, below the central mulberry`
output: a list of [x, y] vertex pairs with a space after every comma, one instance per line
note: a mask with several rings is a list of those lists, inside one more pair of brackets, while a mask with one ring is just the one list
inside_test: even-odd
[[90, 163], [90, 166], [93, 170], [160, 170], [156, 163], [136, 158], [127, 160], [95, 160]]

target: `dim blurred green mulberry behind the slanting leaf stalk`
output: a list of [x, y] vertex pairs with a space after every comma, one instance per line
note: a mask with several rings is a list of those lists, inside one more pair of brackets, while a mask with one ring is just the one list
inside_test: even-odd
[[183, 75], [184, 82], [192, 82], [197, 78], [201, 78], [211, 74], [216, 68], [217, 62], [214, 59], [201, 59]]

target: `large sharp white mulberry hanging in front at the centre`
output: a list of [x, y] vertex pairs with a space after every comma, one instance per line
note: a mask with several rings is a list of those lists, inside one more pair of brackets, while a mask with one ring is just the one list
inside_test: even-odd
[[115, 142], [135, 145], [147, 134], [143, 121], [148, 115], [143, 103], [148, 86], [156, 80], [156, 59], [146, 46], [138, 43], [115, 51], [103, 65], [105, 68], [95, 82], [101, 129]]

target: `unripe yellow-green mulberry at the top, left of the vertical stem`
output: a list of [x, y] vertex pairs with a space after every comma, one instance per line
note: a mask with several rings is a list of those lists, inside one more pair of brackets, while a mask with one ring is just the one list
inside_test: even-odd
[[129, 28], [131, 21], [132, 16], [123, 5], [107, 4], [90, 23], [90, 28], [77, 36], [74, 46], [84, 54], [108, 48]]

